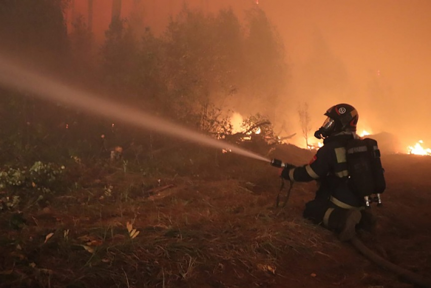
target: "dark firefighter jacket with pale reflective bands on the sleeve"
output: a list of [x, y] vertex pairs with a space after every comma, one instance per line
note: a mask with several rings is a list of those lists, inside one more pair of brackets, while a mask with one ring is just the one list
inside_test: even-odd
[[283, 177], [296, 182], [316, 180], [319, 188], [315, 200], [331, 201], [346, 209], [363, 206], [363, 199], [357, 197], [348, 185], [345, 147], [353, 138], [358, 138], [354, 132], [342, 132], [325, 138], [324, 146], [317, 151], [309, 164], [291, 168], [289, 176]]

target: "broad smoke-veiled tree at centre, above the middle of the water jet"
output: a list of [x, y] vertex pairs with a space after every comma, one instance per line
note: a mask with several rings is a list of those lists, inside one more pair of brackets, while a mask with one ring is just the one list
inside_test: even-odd
[[235, 92], [242, 36], [232, 11], [217, 17], [185, 7], [164, 35], [164, 71], [178, 118], [203, 128], [214, 99]]

